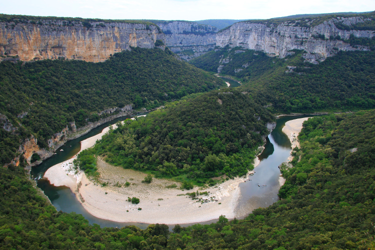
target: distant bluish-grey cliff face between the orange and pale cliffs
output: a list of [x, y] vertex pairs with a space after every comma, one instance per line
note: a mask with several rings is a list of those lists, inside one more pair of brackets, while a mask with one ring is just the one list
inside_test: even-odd
[[184, 60], [212, 50], [217, 28], [190, 21], [155, 22], [165, 33], [165, 44]]

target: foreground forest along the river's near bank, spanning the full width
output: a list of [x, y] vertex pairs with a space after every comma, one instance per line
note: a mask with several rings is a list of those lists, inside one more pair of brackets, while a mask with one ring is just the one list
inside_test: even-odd
[[[0, 168], [0, 245], [58, 249], [372, 249], [375, 110], [310, 118], [277, 201], [209, 225], [100, 228], [56, 212], [22, 166]], [[300, 157], [300, 161], [297, 159]]]

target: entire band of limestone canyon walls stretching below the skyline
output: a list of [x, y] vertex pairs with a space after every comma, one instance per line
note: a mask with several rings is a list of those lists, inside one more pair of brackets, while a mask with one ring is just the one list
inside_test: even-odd
[[0, 60], [66, 58], [98, 62], [130, 46], [152, 48], [157, 39], [184, 60], [217, 46], [239, 46], [281, 58], [292, 49], [301, 49], [306, 51], [304, 58], [313, 63], [339, 50], [369, 49], [343, 40], [350, 35], [372, 38], [373, 30], [357, 30], [355, 25], [371, 21], [373, 16], [332, 17], [320, 23], [316, 22], [319, 18], [243, 21], [220, 32], [216, 27], [191, 21], [0, 21]]

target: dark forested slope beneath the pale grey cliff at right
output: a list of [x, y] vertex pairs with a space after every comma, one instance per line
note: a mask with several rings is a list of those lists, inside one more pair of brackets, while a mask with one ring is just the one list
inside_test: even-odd
[[373, 51], [338, 52], [316, 65], [290, 58], [288, 65], [297, 66], [293, 72], [285, 73], [286, 66], [274, 70], [267, 79], [250, 81], [248, 89], [261, 103], [272, 103], [274, 111], [374, 108], [374, 55]]

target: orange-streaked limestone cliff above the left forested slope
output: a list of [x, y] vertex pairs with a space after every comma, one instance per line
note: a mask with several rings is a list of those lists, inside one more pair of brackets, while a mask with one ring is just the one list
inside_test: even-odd
[[[39, 20], [0, 22], [0, 60], [81, 59], [104, 61], [130, 46], [153, 48], [164, 41], [156, 25], [127, 22]], [[92, 27], [89, 27], [92, 26]]]

